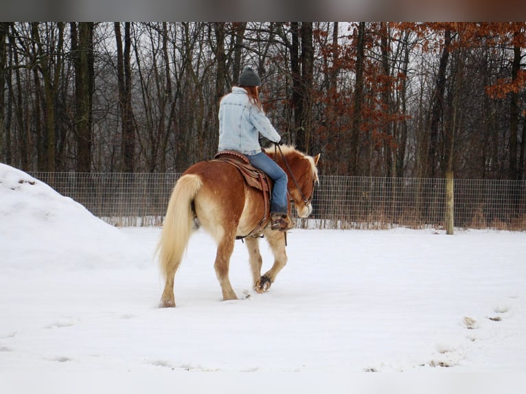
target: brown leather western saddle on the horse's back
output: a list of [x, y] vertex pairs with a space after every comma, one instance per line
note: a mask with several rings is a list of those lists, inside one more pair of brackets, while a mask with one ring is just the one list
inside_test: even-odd
[[258, 170], [256, 167], [251, 165], [249, 159], [244, 154], [236, 152], [235, 150], [222, 150], [221, 152], [218, 152], [218, 154], [214, 156], [214, 161], [222, 161], [224, 163], [233, 165], [243, 176], [247, 185], [262, 192], [265, 205], [265, 211], [262, 219], [250, 233], [247, 235], [238, 236], [236, 238], [243, 239], [251, 235], [259, 235], [268, 223], [268, 220], [271, 219], [271, 180], [262, 170]]

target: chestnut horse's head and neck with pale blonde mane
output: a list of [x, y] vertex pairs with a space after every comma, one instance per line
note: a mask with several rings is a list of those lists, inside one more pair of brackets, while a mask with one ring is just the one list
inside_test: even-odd
[[288, 194], [294, 202], [296, 212], [300, 218], [308, 218], [312, 213], [312, 195], [318, 183], [317, 164], [320, 154], [308, 156], [296, 150], [293, 146], [280, 146], [277, 157], [273, 148], [266, 153], [275, 159], [277, 164], [285, 170], [288, 176]]

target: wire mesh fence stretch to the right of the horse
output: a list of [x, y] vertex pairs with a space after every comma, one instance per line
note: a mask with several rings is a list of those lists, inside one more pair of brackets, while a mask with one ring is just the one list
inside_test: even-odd
[[[457, 179], [454, 185], [455, 227], [526, 230], [526, 182]], [[325, 176], [314, 204], [323, 229], [442, 228], [446, 179]]]

